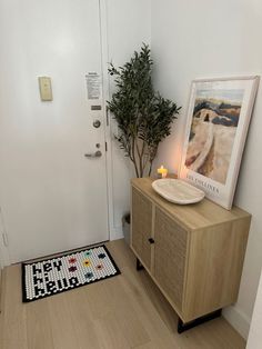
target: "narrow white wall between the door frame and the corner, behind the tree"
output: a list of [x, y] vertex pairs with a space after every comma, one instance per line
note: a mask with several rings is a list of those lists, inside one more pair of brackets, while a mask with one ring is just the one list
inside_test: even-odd
[[[150, 0], [108, 0], [109, 61], [115, 67], [130, 60], [142, 42], [150, 43]], [[114, 90], [113, 81], [110, 92]], [[117, 131], [112, 121], [112, 186], [113, 186], [113, 238], [122, 236], [122, 216], [130, 209], [129, 187], [132, 166], [113, 139]]]

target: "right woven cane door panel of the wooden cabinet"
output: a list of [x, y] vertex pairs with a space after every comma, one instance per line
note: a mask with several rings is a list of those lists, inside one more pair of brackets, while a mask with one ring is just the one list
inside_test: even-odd
[[154, 278], [182, 310], [188, 231], [157, 208], [154, 241]]

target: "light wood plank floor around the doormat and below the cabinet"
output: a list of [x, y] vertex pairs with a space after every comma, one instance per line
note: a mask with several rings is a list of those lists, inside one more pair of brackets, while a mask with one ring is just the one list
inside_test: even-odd
[[31, 303], [21, 302], [20, 266], [4, 269], [0, 348], [245, 348], [223, 318], [178, 335], [177, 315], [123, 240], [108, 248], [121, 276]]

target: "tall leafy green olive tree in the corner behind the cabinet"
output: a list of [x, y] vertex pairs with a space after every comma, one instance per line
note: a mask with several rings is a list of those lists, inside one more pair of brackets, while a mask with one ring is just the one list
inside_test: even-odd
[[[115, 92], [108, 108], [119, 128], [117, 140], [133, 163], [137, 177], [150, 176], [159, 143], [170, 134], [180, 108], [161, 97], [152, 83], [153, 61], [149, 46], [118, 69], [110, 63]], [[124, 220], [130, 220], [129, 215]]]

